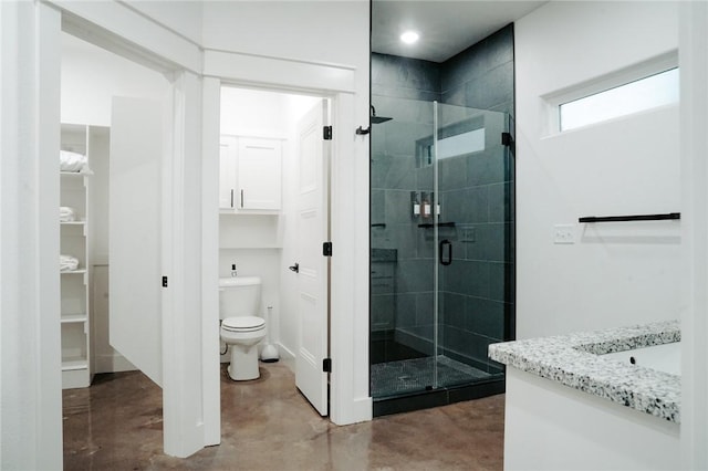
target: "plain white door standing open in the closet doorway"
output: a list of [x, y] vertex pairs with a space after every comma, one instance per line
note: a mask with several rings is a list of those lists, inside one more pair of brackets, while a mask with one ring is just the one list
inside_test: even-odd
[[113, 98], [110, 158], [110, 343], [162, 386], [163, 106]]

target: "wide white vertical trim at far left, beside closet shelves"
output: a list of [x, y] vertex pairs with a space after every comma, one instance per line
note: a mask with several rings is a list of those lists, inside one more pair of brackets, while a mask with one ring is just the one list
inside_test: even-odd
[[60, 31], [45, 4], [0, 2], [0, 469], [62, 468]]

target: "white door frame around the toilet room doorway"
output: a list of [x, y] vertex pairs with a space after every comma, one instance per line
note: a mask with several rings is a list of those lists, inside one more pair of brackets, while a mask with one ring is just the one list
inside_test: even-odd
[[[211, 175], [211, 182], [218, 181], [218, 96], [222, 83], [330, 100], [334, 134], [330, 168], [333, 242], [330, 261], [330, 420], [335, 425], [371, 420], [373, 406], [368, 393], [368, 322], [365, 325], [356, 322], [357, 314], [361, 314], [357, 308], [363, 307], [368, 313], [368, 259], [356, 257], [357, 253], [368, 253], [368, 199], [360, 201], [353, 197], [356, 182], [368, 181], [368, 165], [363, 170], [364, 167], [353, 159], [357, 146], [367, 144], [354, 133], [356, 72], [354, 67], [341, 65], [205, 50], [202, 175]], [[209, 219], [218, 220], [218, 190], [205, 198], [202, 213], [211, 213]], [[214, 228], [217, 232], [218, 224]], [[207, 234], [202, 240], [205, 245], [211, 247], [205, 247], [205, 270], [206, 266], [216, 266], [212, 272], [217, 276], [218, 233]], [[216, 286], [215, 280], [210, 286], [202, 287], [205, 306], [218, 306]], [[360, 299], [365, 302], [362, 306], [354, 306], [352, 300]], [[205, 320], [209, 316], [218, 323], [218, 308], [205, 308]]]

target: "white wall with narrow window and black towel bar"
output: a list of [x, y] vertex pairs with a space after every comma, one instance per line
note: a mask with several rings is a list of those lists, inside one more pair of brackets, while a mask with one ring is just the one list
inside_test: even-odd
[[676, 50], [677, 3], [550, 2], [514, 35], [518, 338], [677, 318], [680, 223], [577, 218], [681, 210], [678, 106], [552, 134], [543, 101]]

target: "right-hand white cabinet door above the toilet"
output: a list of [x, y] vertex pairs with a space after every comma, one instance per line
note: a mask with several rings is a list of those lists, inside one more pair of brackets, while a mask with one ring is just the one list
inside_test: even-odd
[[281, 208], [281, 142], [239, 138], [237, 208]]

